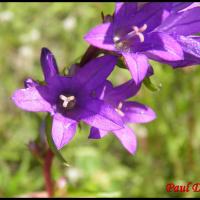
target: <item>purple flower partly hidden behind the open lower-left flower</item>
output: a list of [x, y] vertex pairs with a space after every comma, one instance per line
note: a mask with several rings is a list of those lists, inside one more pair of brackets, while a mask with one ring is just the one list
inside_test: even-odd
[[[112, 132], [124, 146], [124, 148], [134, 154], [137, 147], [136, 136], [132, 129], [128, 127], [128, 123], [147, 123], [156, 118], [154, 111], [138, 102], [126, 101], [128, 98], [136, 95], [141, 85], [135, 85], [133, 80], [130, 80], [120, 86], [113, 87], [107, 81], [106, 85], [98, 88], [96, 95], [103, 99], [105, 102], [113, 105], [115, 110], [121, 116], [124, 127]], [[92, 127], [90, 130], [89, 138], [100, 139], [107, 135], [109, 132]]]

